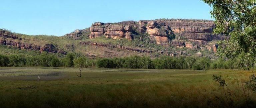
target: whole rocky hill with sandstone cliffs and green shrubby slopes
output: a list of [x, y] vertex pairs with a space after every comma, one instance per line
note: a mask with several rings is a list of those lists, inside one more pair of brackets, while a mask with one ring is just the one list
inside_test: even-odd
[[164, 54], [216, 58], [216, 42], [228, 37], [214, 35], [213, 28], [214, 22], [209, 20], [157, 19], [96, 22], [90, 28], [75, 30], [62, 37], [30, 36], [0, 29], [0, 44], [60, 56], [74, 52], [90, 57], [134, 54], [157, 57]]

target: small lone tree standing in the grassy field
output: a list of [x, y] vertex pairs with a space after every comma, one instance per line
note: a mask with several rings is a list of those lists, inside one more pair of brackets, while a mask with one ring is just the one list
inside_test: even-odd
[[78, 74], [77, 77], [81, 77], [81, 71], [84, 67], [87, 67], [87, 58], [85, 56], [80, 56], [74, 59], [74, 65], [76, 68], [79, 68], [80, 73], [79, 76]]

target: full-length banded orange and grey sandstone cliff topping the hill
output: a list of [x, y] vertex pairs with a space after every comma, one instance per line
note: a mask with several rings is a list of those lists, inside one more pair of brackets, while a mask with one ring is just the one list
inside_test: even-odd
[[[216, 49], [216, 45], [209, 44], [209, 42], [228, 39], [223, 35], [213, 34], [213, 29], [214, 22], [211, 20], [157, 19], [106, 24], [96, 22], [90, 27], [89, 38], [105, 36], [106, 38], [132, 40], [135, 35], [148, 34], [149, 39], [155, 41], [158, 45], [166, 47], [175, 46], [189, 49], [195, 49], [196, 47], [198, 49], [207, 48], [213, 50]], [[172, 35], [185, 39], [172, 40]]]

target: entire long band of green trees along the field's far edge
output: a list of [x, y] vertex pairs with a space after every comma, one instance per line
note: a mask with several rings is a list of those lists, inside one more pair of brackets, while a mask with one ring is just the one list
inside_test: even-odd
[[[43, 67], [74, 67], [74, 59], [82, 56], [68, 53], [64, 57], [43, 52], [35, 56], [24, 56], [19, 54], [0, 54], [0, 66], [43, 66]], [[237, 57], [235, 59], [218, 58], [211, 60], [209, 57], [195, 56], [160, 56], [150, 58], [149, 56], [133, 55], [129, 57], [113, 58], [87, 58], [85, 67], [90, 68], [133, 68], [133, 69], [254, 69], [255, 61]]]

